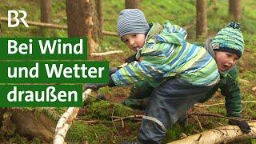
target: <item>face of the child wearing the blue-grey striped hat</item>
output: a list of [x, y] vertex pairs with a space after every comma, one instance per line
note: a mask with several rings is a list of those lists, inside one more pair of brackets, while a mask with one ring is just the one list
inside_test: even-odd
[[144, 46], [145, 34], [126, 34], [122, 36], [121, 40], [130, 50], [137, 51]]

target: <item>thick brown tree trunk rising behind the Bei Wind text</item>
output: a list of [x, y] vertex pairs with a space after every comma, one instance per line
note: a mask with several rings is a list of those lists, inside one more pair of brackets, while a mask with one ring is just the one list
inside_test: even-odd
[[88, 38], [89, 54], [96, 51], [99, 36], [95, 0], [66, 0], [66, 17], [69, 37]]

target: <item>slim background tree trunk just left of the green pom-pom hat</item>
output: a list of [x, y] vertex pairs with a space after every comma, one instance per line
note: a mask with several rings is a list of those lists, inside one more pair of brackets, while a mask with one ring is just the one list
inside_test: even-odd
[[207, 34], [207, 10], [206, 0], [197, 0], [197, 22], [196, 35], [205, 36]]

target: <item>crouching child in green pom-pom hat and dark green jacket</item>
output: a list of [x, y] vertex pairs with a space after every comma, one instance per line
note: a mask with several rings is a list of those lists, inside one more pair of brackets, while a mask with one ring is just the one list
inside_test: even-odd
[[[221, 89], [221, 93], [226, 96], [225, 104], [227, 116], [231, 118], [241, 117], [242, 103], [241, 92], [237, 82], [238, 68], [236, 66], [238, 59], [241, 58], [244, 51], [244, 40], [240, 25], [237, 22], [230, 22], [225, 28], [220, 30], [214, 38], [206, 40], [204, 48], [215, 59], [220, 81], [198, 102], [206, 102], [212, 98], [214, 93]], [[127, 58], [130, 62], [137, 60], [134, 56]], [[152, 82], [151, 82], [152, 83]], [[130, 97], [126, 99], [124, 105], [135, 109], [145, 109], [149, 94], [154, 90], [154, 85], [150, 82], [140, 82], [134, 85]], [[181, 118], [184, 122], [185, 118]], [[229, 120], [232, 125], [238, 125], [245, 133], [250, 132], [250, 126], [246, 121]]]

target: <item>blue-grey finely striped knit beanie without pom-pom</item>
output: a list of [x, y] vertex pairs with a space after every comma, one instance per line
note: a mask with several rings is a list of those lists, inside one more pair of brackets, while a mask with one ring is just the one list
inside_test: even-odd
[[118, 17], [117, 28], [120, 37], [125, 34], [147, 34], [150, 30], [143, 12], [138, 9], [122, 10]]

